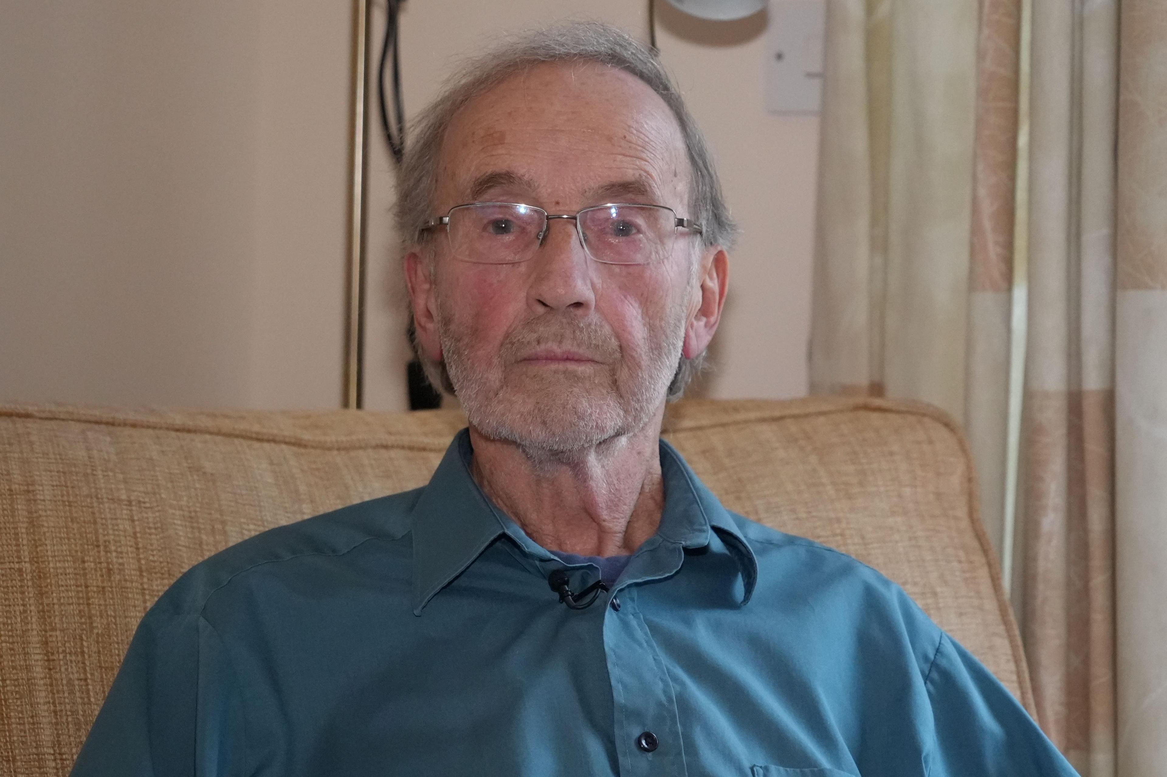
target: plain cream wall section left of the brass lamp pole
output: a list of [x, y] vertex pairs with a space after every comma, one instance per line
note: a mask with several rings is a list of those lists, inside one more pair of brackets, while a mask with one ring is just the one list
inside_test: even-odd
[[0, 401], [340, 404], [351, 21], [0, 5]]

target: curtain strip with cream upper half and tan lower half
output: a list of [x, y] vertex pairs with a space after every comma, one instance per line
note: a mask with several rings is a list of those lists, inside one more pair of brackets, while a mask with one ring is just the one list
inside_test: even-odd
[[1113, 0], [1033, 0], [1028, 348], [1014, 607], [1042, 727], [1114, 774]]

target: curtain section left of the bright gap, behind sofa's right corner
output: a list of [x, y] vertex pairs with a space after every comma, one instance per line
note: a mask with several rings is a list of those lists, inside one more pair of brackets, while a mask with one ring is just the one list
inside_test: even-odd
[[966, 421], [998, 548], [1018, 7], [829, 0], [811, 309], [812, 393]]

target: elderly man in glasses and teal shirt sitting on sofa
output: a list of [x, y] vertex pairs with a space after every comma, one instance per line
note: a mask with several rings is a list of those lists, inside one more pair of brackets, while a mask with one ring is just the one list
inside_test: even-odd
[[426, 488], [252, 538], [144, 618], [75, 775], [1071, 775], [893, 583], [727, 512], [659, 439], [733, 225], [657, 60], [576, 24], [425, 113]]

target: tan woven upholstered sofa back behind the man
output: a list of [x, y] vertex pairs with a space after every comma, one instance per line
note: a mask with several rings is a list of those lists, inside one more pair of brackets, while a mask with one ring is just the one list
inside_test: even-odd
[[[0, 775], [68, 771], [138, 620], [251, 534], [424, 484], [460, 415], [0, 407]], [[666, 438], [732, 510], [901, 583], [1030, 710], [969, 453], [923, 405], [685, 401]]]

